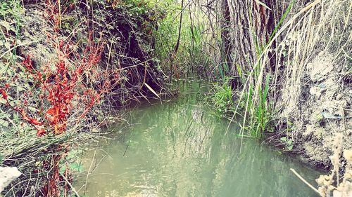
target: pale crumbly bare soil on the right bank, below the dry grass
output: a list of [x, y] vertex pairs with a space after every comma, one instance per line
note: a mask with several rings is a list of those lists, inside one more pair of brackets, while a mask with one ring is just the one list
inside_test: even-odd
[[344, 136], [342, 149], [352, 149], [350, 75], [348, 65], [322, 52], [306, 65], [296, 100], [286, 100], [292, 93], [283, 90], [282, 102], [289, 103], [279, 116], [293, 125], [289, 130], [294, 149], [304, 163], [325, 170], [331, 168], [329, 157], [339, 133]]

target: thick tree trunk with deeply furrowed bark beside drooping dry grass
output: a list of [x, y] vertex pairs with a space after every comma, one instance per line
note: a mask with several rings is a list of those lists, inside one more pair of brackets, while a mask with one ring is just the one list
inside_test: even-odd
[[[275, 29], [275, 0], [260, 0], [268, 8], [249, 0], [227, 0], [230, 5], [231, 40], [233, 45], [233, 62], [230, 75], [236, 77], [232, 81], [233, 88], [241, 84], [239, 72], [250, 71], [257, 61], [260, 48], [264, 47]], [[270, 11], [270, 9], [271, 11]]]

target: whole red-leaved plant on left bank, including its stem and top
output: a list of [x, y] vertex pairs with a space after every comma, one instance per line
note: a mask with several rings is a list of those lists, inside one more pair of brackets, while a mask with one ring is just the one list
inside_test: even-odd
[[[54, 32], [58, 32], [60, 23], [58, 2], [46, 0], [46, 18], [54, 23]], [[40, 93], [39, 97], [28, 91], [23, 95], [25, 100], [21, 104], [22, 107], [13, 107], [8, 101], [8, 84], [0, 88], [0, 97], [6, 100], [13, 110], [18, 111], [23, 121], [37, 130], [38, 137], [49, 133], [54, 135], [65, 133], [69, 118], [78, 120], [84, 118], [92, 110], [94, 104], [99, 102], [101, 95], [107, 93], [113, 86], [109, 81], [111, 74], [108, 71], [99, 72], [99, 69], [96, 69], [101, 61], [103, 44], [95, 43], [92, 33], [89, 34], [89, 43], [80, 53], [73, 49], [77, 48], [73, 47], [76, 43], [59, 41], [55, 34], [47, 35], [48, 42], [56, 48], [57, 60], [55, 62], [44, 67], [34, 67], [32, 55], [27, 55], [22, 62], [27, 72], [27, 79], [32, 79], [34, 88]], [[119, 81], [120, 71], [113, 72], [113, 76], [116, 81]], [[15, 77], [11, 80], [15, 80]], [[88, 85], [90, 81], [99, 81], [99, 79], [106, 79], [101, 86]], [[27, 110], [32, 104], [30, 97], [36, 97], [41, 101], [37, 102], [39, 104], [38, 114]], [[74, 111], [75, 107], [78, 110]], [[43, 161], [42, 167], [50, 172], [46, 186], [42, 189], [44, 196], [60, 196], [58, 185], [61, 177], [58, 164], [62, 158], [65, 158], [68, 147], [58, 146], [55, 147], [55, 151], [57, 151], [56, 154]]]

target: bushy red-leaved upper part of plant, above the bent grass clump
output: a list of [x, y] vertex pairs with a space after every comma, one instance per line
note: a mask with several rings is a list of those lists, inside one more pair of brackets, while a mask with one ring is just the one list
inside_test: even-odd
[[[54, 36], [49, 37], [54, 38]], [[81, 82], [83, 79], [83, 71], [94, 69], [96, 64], [100, 61], [103, 48], [102, 46], [96, 46], [94, 43], [89, 44], [84, 50], [82, 57], [79, 60], [73, 61], [77, 62], [77, 64], [70, 64], [73, 69], [69, 69], [67, 62], [70, 60], [70, 54], [73, 53], [73, 51], [70, 50], [70, 44], [64, 44], [63, 41], [60, 41], [59, 44], [56, 44], [55, 41], [52, 43], [56, 46], [58, 53], [58, 61], [55, 63], [54, 71], [50, 71], [49, 66], [47, 66], [44, 69], [44, 74], [42, 74], [41, 71], [34, 72], [30, 55], [23, 60], [23, 66], [30, 74], [33, 74], [34, 81], [41, 84], [42, 97], [51, 105], [44, 114], [46, 121], [49, 125], [54, 127], [54, 134], [60, 134], [66, 130], [67, 120], [73, 108], [73, 100], [76, 97], [80, 99], [80, 97], [83, 96], [84, 100], [88, 102], [80, 118], [85, 116], [89, 109], [99, 101], [100, 94], [94, 93], [94, 90], [85, 88]], [[43, 75], [46, 76], [45, 79]], [[83, 93], [83, 95], [80, 95], [80, 91], [77, 91], [78, 88], [82, 89], [81, 93]], [[30, 123], [39, 123], [28, 118], [24, 119]]]

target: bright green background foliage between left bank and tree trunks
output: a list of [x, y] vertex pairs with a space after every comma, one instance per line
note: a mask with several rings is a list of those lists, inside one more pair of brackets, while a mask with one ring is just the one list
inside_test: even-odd
[[[184, 5], [182, 10], [181, 4], [172, 0], [159, 2], [157, 7], [161, 17], [158, 18], [156, 29], [155, 56], [161, 62], [161, 69], [171, 72], [172, 64], [177, 72], [206, 76], [214, 60], [205, 53], [206, 34], [203, 32], [206, 32], [207, 27], [202, 13], [196, 13], [195, 16], [194, 8]], [[179, 37], [181, 12], [180, 47], [177, 54], [172, 56]]]

